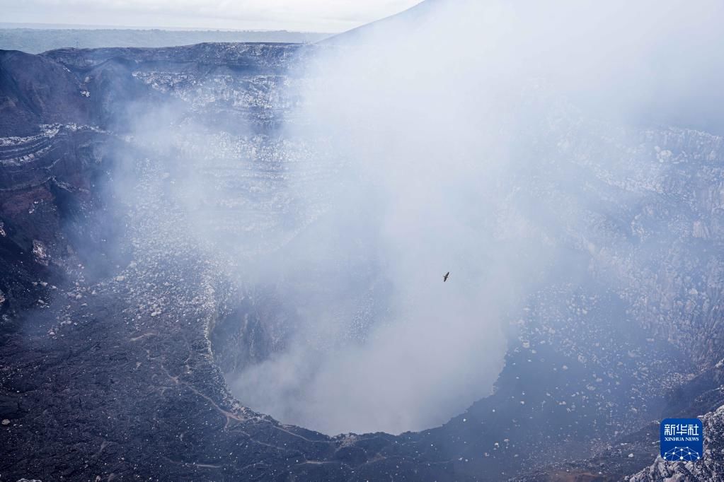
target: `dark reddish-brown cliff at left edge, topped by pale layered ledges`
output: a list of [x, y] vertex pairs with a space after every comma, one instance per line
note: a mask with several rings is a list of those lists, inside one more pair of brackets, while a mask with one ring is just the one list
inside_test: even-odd
[[46, 291], [38, 277], [60, 276], [59, 262], [73, 249], [69, 238], [93, 230], [67, 228], [103, 209], [102, 173], [112, 157], [113, 142], [97, 129], [36, 127], [41, 134], [6, 137], [0, 145], [0, 241], [7, 249], [0, 289], [6, 293], [5, 309], [35, 304], [35, 296]]

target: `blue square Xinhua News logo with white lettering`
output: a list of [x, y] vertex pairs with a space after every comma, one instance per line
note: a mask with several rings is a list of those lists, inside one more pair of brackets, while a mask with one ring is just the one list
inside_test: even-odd
[[699, 418], [667, 418], [661, 422], [661, 458], [696, 462], [704, 456], [704, 425]]

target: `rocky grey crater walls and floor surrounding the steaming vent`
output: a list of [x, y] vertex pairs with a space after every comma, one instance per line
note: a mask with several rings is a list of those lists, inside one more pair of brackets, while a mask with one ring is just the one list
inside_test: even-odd
[[[720, 473], [724, 142], [620, 129], [563, 103], [523, 136], [539, 168], [507, 180], [515, 209], [497, 228], [513, 242], [532, 226], [571, 262], [510, 317], [493, 395], [401, 436], [331, 438], [243, 408], [224, 374], [285, 349], [295, 315], [283, 291], [244, 285], [235, 259], [279, 251], [330, 202], [314, 193], [302, 210], [290, 190], [334, 176], [316, 163], [326, 146], [280, 134], [299, 121], [290, 67], [303, 55], [0, 53], [3, 475], [484, 480], [582, 459], [531, 477], [621, 478], [655, 457], [649, 421], [672, 412], [711, 412], [711, 459], [635, 480]], [[172, 109], [152, 118], [164, 139], [143, 137], [148, 106]], [[193, 199], [180, 196], [188, 173], [203, 188]], [[515, 202], [521, 189], [544, 219]]]

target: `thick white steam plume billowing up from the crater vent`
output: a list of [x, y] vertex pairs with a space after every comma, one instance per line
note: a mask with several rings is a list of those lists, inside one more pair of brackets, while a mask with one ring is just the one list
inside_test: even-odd
[[[238, 250], [244, 285], [285, 308], [282, 348], [230, 375], [235, 395], [336, 434], [436, 426], [489, 394], [526, 294], [585, 272], [573, 250], [613, 242], [586, 231], [590, 199], [557, 157], [589, 142], [589, 119], [720, 128], [708, 114], [722, 100], [723, 13], [716, 1], [429, 0], [307, 51], [295, 122], [274, 141], [294, 160], [293, 209], [253, 256], [251, 235], [214, 239]], [[624, 134], [611, 132], [615, 145]]]

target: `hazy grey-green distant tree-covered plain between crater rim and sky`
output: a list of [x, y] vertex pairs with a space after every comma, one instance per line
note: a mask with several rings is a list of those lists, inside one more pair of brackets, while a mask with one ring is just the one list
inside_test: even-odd
[[55, 48], [172, 47], [203, 42], [311, 43], [328, 33], [233, 30], [0, 29], [0, 49], [41, 53]]

